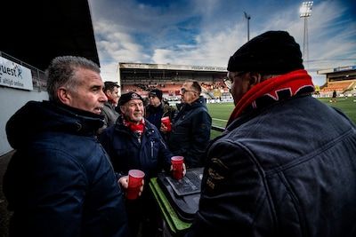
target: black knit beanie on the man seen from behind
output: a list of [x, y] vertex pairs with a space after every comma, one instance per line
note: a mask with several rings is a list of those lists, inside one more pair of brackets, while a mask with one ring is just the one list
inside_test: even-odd
[[242, 45], [229, 59], [228, 71], [282, 75], [303, 69], [302, 52], [287, 31], [267, 31]]

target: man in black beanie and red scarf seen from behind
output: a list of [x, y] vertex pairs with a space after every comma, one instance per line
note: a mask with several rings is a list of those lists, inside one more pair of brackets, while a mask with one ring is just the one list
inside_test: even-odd
[[356, 126], [312, 97], [299, 44], [268, 31], [230, 58], [235, 108], [206, 151], [191, 236], [356, 236]]

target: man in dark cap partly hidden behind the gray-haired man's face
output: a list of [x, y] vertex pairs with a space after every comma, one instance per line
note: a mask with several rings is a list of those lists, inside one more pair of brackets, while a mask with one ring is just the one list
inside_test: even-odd
[[117, 102], [119, 99], [118, 88], [120, 86], [114, 82], [105, 82], [104, 85], [104, 93], [108, 98], [108, 101], [105, 102], [101, 111], [101, 115], [104, 115], [104, 125], [101, 130], [114, 125], [115, 122], [117, 122], [118, 117], [118, 113], [115, 110], [115, 107], [117, 107]]

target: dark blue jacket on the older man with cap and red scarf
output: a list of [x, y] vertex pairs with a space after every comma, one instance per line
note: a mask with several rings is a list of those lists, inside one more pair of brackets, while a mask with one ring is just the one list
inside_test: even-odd
[[158, 129], [147, 120], [141, 142], [123, 124], [121, 115], [115, 126], [101, 133], [99, 140], [108, 152], [114, 170], [121, 175], [127, 175], [132, 169], [142, 170], [148, 185], [150, 178], [156, 177], [162, 169], [169, 170], [172, 154]]

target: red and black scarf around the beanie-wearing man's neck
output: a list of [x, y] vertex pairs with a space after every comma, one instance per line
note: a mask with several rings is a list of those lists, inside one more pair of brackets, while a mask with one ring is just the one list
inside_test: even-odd
[[312, 93], [312, 91], [314, 91], [312, 77], [303, 69], [267, 79], [256, 84], [239, 100], [227, 125], [238, 118], [247, 108], [263, 107], [274, 101]]

